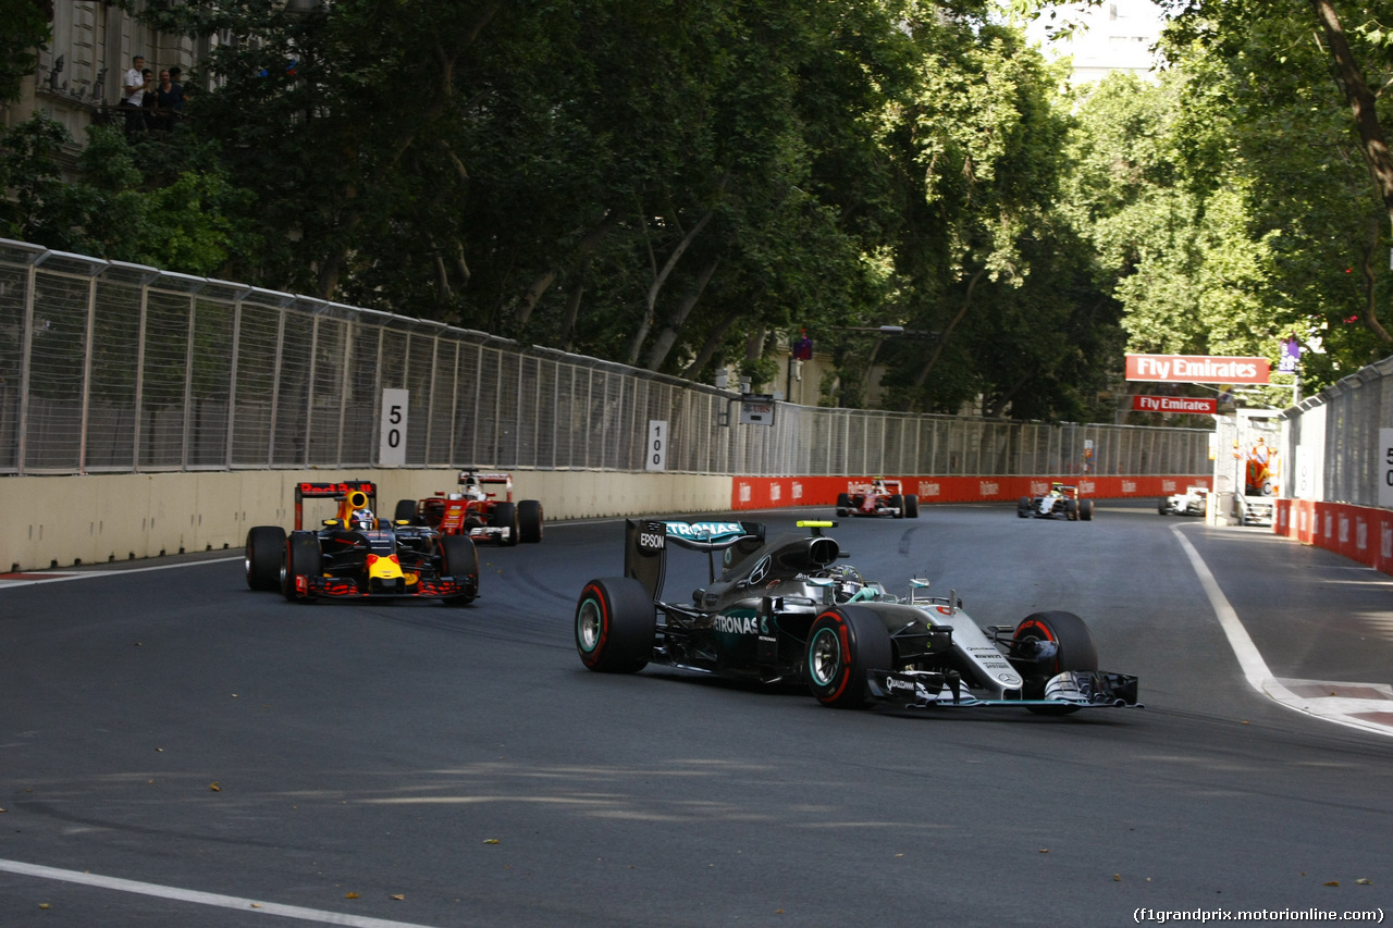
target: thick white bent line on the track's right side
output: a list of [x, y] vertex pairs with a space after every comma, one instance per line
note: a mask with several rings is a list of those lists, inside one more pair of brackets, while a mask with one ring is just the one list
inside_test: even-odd
[[[1382, 698], [1382, 694], [1385, 693], [1389, 693], [1390, 697], [1393, 697], [1393, 690], [1390, 690], [1387, 684], [1280, 680], [1272, 676], [1272, 672], [1268, 669], [1268, 662], [1262, 659], [1261, 654], [1258, 654], [1256, 645], [1254, 645], [1252, 638], [1248, 637], [1248, 630], [1243, 627], [1238, 613], [1234, 612], [1233, 606], [1229, 605], [1229, 599], [1223, 595], [1223, 591], [1219, 589], [1219, 581], [1216, 581], [1215, 575], [1209, 573], [1209, 567], [1205, 564], [1204, 559], [1199, 557], [1199, 552], [1195, 550], [1195, 546], [1190, 543], [1190, 539], [1181, 534], [1178, 527], [1172, 525], [1170, 531], [1174, 532], [1176, 539], [1180, 541], [1180, 548], [1190, 559], [1190, 566], [1195, 569], [1195, 574], [1199, 577], [1199, 585], [1204, 587], [1205, 595], [1209, 596], [1209, 605], [1213, 608], [1215, 616], [1219, 617], [1219, 626], [1223, 628], [1224, 635], [1229, 637], [1229, 647], [1233, 648], [1233, 654], [1238, 659], [1238, 666], [1243, 669], [1243, 676], [1248, 680], [1248, 686], [1295, 712], [1302, 712], [1305, 715], [1334, 722], [1336, 725], [1344, 725], [1351, 729], [1393, 737], [1393, 726], [1355, 718], [1355, 713], [1360, 712], [1386, 712], [1390, 718], [1393, 718], [1393, 698]], [[1328, 691], [1330, 695], [1297, 695], [1290, 688], [1293, 686], [1301, 690]], [[1340, 697], [1337, 694], [1341, 688], [1373, 691], [1379, 694], [1379, 698]]]

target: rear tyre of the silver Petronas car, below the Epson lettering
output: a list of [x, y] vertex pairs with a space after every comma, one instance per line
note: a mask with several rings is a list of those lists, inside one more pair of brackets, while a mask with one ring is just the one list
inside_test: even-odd
[[575, 603], [575, 652], [599, 673], [638, 673], [653, 656], [657, 612], [631, 577], [592, 580]]

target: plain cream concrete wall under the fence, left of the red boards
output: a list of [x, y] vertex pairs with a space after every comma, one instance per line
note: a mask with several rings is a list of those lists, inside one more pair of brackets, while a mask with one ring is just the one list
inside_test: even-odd
[[[0, 571], [42, 570], [182, 552], [241, 549], [252, 525], [295, 521], [295, 484], [371, 479], [378, 507], [456, 486], [454, 470], [208, 471], [0, 478]], [[730, 477], [514, 471], [513, 497], [547, 520], [702, 513], [730, 506]], [[306, 502], [306, 521], [332, 513]]]

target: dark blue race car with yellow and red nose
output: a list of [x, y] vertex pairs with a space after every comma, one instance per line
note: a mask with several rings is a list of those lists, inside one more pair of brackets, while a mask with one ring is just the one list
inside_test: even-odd
[[[464, 606], [479, 595], [479, 553], [464, 535], [393, 524], [373, 516], [371, 481], [295, 486], [295, 529], [258, 525], [247, 532], [247, 585], [279, 589], [291, 602], [421, 598]], [[333, 518], [304, 528], [304, 500], [333, 499]]]

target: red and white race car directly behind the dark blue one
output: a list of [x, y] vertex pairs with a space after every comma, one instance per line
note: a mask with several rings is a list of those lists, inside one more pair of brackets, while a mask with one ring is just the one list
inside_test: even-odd
[[393, 517], [442, 535], [468, 535], [475, 542], [517, 545], [542, 541], [542, 503], [513, 502], [511, 474], [460, 471], [460, 489], [422, 500], [397, 502]]

